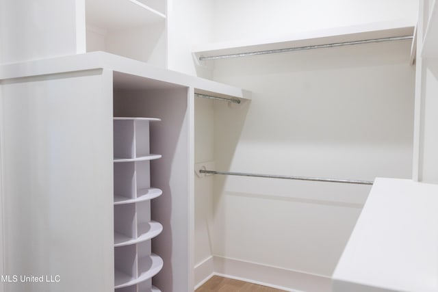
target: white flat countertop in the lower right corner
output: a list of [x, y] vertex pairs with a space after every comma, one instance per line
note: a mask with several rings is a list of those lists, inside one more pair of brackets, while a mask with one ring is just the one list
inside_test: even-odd
[[438, 185], [376, 178], [333, 291], [438, 291], [437, 194]]

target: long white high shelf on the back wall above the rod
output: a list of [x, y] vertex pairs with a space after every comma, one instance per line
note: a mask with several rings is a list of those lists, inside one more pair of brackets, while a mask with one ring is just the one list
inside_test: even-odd
[[287, 36], [264, 38], [261, 40], [235, 40], [230, 42], [201, 44], [193, 47], [192, 51], [196, 59], [199, 59], [199, 57], [289, 49], [339, 42], [372, 40], [376, 38], [412, 36], [414, 25], [415, 24], [411, 21], [405, 20], [369, 23], [350, 27], [302, 31]]

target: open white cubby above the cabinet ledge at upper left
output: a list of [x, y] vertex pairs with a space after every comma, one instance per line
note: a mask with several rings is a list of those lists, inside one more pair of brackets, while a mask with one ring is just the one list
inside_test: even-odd
[[107, 51], [166, 67], [166, 3], [86, 0], [86, 51]]

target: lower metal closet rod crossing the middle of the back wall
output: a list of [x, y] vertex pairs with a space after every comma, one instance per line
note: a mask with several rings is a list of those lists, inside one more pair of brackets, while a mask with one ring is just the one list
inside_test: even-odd
[[199, 170], [201, 174], [223, 174], [232, 176], [253, 176], [262, 178], [282, 178], [282, 179], [293, 179], [297, 181], [321, 181], [326, 183], [353, 183], [356, 185], [372, 185], [372, 181], [357, 181], [350, 179], [336, 179], [336, 178], [318, 178], [318, 177], [306, 177], [306, 176], [283, 176], [275, 174], [250, 174], [245, 172], [218, 172], [216, 170]]

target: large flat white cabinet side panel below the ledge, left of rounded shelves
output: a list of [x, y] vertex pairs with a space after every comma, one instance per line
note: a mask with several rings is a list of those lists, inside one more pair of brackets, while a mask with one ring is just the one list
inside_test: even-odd
[[1, 83], [4, 272], [60, 275], [32, 291], [114, 287], [111, 96], [106, 70]]

